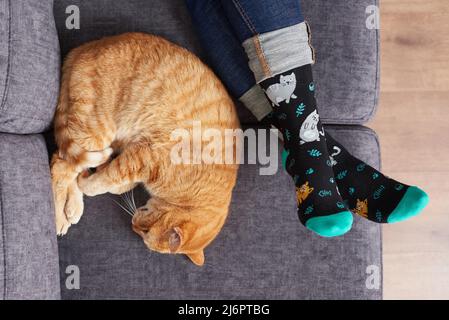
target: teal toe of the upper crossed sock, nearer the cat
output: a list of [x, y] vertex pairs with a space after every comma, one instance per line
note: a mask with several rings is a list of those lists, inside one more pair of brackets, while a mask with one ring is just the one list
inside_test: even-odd
[[343, 211], [329, 216], [307, 220], [306, 227], [322, 237], [338, 237], [351, 230], [352, 213]]

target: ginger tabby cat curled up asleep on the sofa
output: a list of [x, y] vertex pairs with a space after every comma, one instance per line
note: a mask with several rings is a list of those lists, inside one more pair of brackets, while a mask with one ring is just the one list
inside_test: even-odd
[[[57, 234], [81, 218], [83, 194], [121, 194], [143, 184], [151, 198], [137, 209], [133, 230], [149, 249], [202, 265], [204, 248], [227, 217], [238, 165], [173, 164], [170, 151], [179, 141], [170, 134], [191, 132], [193, 120], [202, 130], [239, 128], [225, 88], [187, 50], [141, 33], [72, 50], [63, 66], [51, 163]], [[97, 171], [89, 175], [91, 167]]]

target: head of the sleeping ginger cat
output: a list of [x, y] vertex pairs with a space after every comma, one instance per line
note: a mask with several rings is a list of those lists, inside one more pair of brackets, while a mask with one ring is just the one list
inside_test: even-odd
[[[145, 245], [159, 253], [185, 254], [198, 266], [204, 264], [204, 248], [218, 235], [226, 218], [204, 209], [181, 208], [150, 199], [137, 209], [132, 224]], [[215, 218], [214, 218], [215, 217]], [[207, 222], [206, 222], [207, 221]]]

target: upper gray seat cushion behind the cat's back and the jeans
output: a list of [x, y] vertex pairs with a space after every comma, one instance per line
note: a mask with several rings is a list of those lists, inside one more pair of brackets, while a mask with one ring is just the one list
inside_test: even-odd
[[[317, 52], [317, 99], [325, 123], [363, 124], [377, 104], [378, 33], [365, 26], [377, 0], [302, 0]], [[81, 28], [65, 28], [65, 8], [76, 4]], [[58, 0], [55, 18], [65, 55], [81, 43], [126, 31], [161, 35], [201, 54], [183, 0]], [[255, 118], [241, 105], [242, 123]]]

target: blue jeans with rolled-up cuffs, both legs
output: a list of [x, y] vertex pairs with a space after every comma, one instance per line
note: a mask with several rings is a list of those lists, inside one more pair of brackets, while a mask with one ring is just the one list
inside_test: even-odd
[[[273, 31], [303, 24], [300, 1], [186, 0], [186, 4], [209, 65], [231, 95], [242, 100], [261, 120], [271, 108], [261, 89], [255, 86], [256, 80], [259, 82], [263, 77], [272, 76], [278, 70], [270, 70], [271, 66], [264, 61], [263, 50], [257, 45], [265, 41], [264, 36], [269, 36]], [[300, 32], [301, 30], [293, 29], [290, 34], [297, 40], [301, 39], [296, 36]], [[269, 48], [270, 41], [267, 42], [266, 47]], [[308, 39], [305, 42], [308, 46]], [[286, 56], [294, 56], [295, 54], [291, 53], [302, 50], [294, 44], [289, 47], [291, 52], [285, 52]]]

